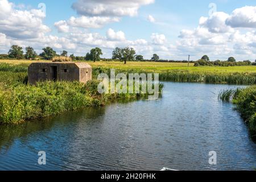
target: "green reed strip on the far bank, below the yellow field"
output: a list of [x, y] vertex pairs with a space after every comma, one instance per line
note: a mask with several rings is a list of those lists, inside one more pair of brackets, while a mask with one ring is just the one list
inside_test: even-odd
[[[28, 64], [7, 64], [0, 63], [0, 72], [11, 73], [27, 73]], [[115, 69], [115, 74], [118, 73], [156, 73], [154, 69], [152, 72], [143, 69]], [[93, 78], [97, 78], [99, 73], [107, 73], [110, 76], [110, 68], [93, 67]], [[205, 82], [205, 83], [223, 83], [223, 84], [237, 84], [237, 85], [253, 85], [256, 84], [255, 73], [225, 73], [225, 72], [193, 72], [183, 70], [166, 70], [159, 72], [160, 81], [175, 81], [175, 82]]]

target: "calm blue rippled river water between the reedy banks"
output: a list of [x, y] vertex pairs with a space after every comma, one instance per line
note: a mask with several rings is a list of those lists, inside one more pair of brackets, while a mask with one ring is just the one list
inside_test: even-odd
[[[230, 85], [164, 82], [159, 100], [113, 103], [18, 126], [0, 126], [0, 170], [253, 170], [256, 144]], [[46, 165], [38, 152], [46, 152]], [[216, 151], [217, 165], [209, 165]]]

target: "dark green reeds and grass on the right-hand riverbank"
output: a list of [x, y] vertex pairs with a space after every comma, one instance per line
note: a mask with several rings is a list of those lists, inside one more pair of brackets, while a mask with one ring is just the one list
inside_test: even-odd
[[223, 90], [219, 94], [222, 101], [232, 101], [236, 109], [240, 111], [250, 130], [256, 132], [256, 86], [248, 86], [243, 89]]

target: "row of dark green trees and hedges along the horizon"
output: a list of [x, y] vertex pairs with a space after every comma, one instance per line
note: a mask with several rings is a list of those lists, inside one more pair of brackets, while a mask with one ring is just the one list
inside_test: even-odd
[[[44, 59], [44, 60], [52, 60], [55, 56], [65, 56], [68, 57], [68, 52], [63, 51], [60, 55], [56, 53], [51, 47], [46, 47], [42, 49], [43, 52], [39, 55], [34, 51], [34, 48], [28, 46], [26, 47], [26, 52], [23, 52], [22, 47], [13, 45], [11, 46], [9, 52], [7, 54], [0, 55], [0, 59], [27, 59], [27, 60], [35, 60], [35, 59]], [[160, 57], [154, 53], [150, 60], [144, 59], [142, 55], [137, 55], [134, 48], [124, 47], [119, 48], [116, 47], [112, 52], [112, 59], [102, 59], [102, 50], [98, 47], [93, 48], [90, 52], [86, 53], [85, 56], [75, 56], [74, 54], [69, 55], [74, 61], [100, 61], [100, 60], [119, 60], [123, 61], [125, 64], [127, 61], [156, 61], [156, 62], [182, 62], [187, 63], [187, 60], [183, 61], [175, 61], [175, 60], [160, 60]], [[249, 60], [239, 61], [237, 62], [234, 57], [229, 57], [226, 61], [216, 60], [210, 61], [207, 55], [201, 57], [200, 60], [197, 61], [189, 61], [190, 63], [195, 63], [196, 67], [200, 66], [233, 66], [233, 65], [256, 65], [255, 63], [251, 63]]]

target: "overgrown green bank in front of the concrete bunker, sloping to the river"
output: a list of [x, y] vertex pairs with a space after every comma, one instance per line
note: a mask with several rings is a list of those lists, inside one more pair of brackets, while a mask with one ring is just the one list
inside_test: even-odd
[[[0, 64], [0, 123], [19, 123], [112, 100], [136, 100], [147, 94], [99, 94], [98, 81], [39, 82], [27, 85], [27, 64]], [[160, 85], [160, 91], [163, 85]]]

